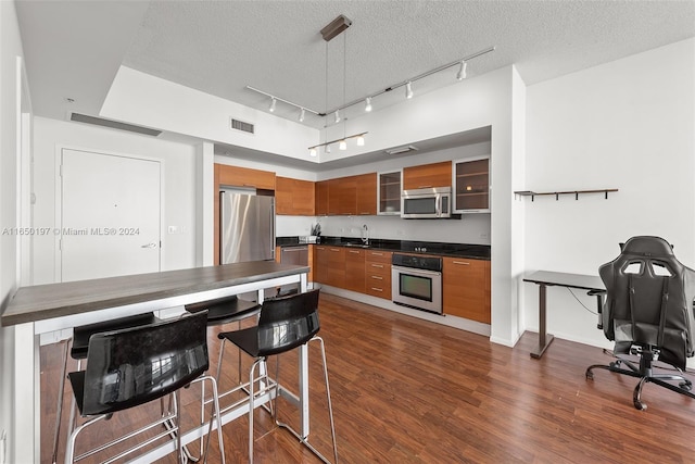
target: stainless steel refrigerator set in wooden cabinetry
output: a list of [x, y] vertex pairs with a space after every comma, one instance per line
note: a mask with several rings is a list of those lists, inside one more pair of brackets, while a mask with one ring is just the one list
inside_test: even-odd
[[219, 192], [222, 264], [275, 260], [275, 198]]

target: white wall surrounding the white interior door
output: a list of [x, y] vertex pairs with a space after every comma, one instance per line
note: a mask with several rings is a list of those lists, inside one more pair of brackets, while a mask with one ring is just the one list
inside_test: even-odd
[[[56, 153], [61, 148], [155, 159], [161, 161], [164, 173], [162, 271], [197, 265], [197, 249], [200, 249], [197, 237], [200, 234], [197, 225], [197, 212], [200, 210], [197, 179], [203, 175], [199, 165], [202, 156], [200, 147], [45, 117], [35, 118], [34, 136], [36, 227], [60, 227], [55, 224], [55, 189], [56, 184], [60, 186]], [[211, 161], [212, 155], [207, 159]], [[179, 234], [169, 235], [168, 226], [177, 226]], [[56, 281], [54, 238], [37, 238], [34, 250], [35, 284]]]

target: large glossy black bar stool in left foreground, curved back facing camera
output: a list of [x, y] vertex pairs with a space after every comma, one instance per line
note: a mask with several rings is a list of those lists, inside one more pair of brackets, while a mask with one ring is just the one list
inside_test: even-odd
[[[87, 368], [68, 374], [77, 407], [83, 417], [89, 417], [71, 434], [67, 440], [65, 462], [74, 462], [101, 452], [114, 444], [132, 439], [156, 426], [169, 427], [159, 435], [142, 439], [114, 459], [121, 459], [174, 435], [178, 462], [182, 462], [179, 390], [197, 381], [211, 381], [217, 421], [217, 438], [222, 462], [225, 462], [219, 404], [216, 400], [215, 379], [204, 376], [207, 358], [207, 315], [197, 315], [163, 321], [155, 324], [94, 334], [89, 339]], [[93, 450], [74, 456], [75, 441], [87, 427], [126, 409], [135, 407], [174, 393], [173, 407], [153, 423], [123, 437], [109, 441]], [[172, 411], [173, 410], [173, 411]], [[207, 430], [212, 432], [213, 419]], [[170, 439], [170, 438], [169, 438]]]

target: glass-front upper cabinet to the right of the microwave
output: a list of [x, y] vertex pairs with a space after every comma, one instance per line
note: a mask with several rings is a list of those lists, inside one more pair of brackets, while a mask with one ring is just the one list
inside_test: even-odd
[[453, 162], [454, 213], [490, 212], [490, 156]]

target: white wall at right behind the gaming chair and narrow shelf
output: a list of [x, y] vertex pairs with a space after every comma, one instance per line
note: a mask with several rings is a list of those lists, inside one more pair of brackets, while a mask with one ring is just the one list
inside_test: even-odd
[[[527, 127], [527, 189], [619, 189], [608, 200], [518, 199], [527, 269], [596, 275], [636, 235], [666, 238], [695, 266], [695, 39], [530, 86]], [[535, 329], [538, 291], [529, 290], [525, 324]], [[606, 346], [566, 289], [549, 289], [548, 305], [552, 334]]]

